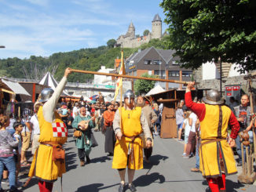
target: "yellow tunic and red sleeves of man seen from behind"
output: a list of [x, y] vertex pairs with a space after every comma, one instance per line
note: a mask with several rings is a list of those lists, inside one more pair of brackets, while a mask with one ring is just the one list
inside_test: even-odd
[[232, 139], [236, 139], [240, 128], [232, 110], [226, 106], [194, 103], [192, 102], [191, 92], [185, 94], [185, 103], [198, 116], [200, 121], [202, 142], [199, 157], [200, 171], [203, 176], [221, 176], [223, 171], [226, 175], [236, 173], [236, 161], [226, 140], [228, 125], [232, 129], [230, 135]]

